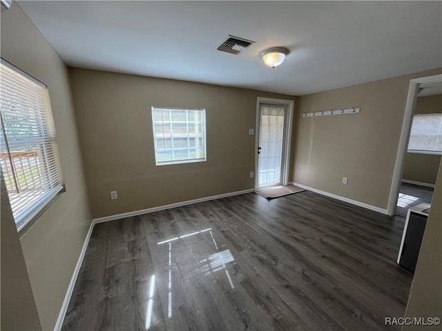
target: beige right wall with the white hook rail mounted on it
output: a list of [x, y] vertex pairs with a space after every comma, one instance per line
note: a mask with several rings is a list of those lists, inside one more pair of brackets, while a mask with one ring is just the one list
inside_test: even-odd
[[[441, 68], [298, 97], [291, 181], [387, 209], [410, 79]], [[304, 112], [361, 108], [356, 114]], [[342, 183], [348, 177], [347, 185]]]

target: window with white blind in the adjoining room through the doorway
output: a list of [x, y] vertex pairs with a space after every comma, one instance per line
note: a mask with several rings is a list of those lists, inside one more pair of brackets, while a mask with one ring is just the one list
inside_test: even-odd
[[442, 114], [414, 115], [408, 152], [442, 153]]

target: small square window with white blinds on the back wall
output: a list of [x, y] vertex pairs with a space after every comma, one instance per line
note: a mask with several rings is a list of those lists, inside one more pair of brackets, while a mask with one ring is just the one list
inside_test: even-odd
[[157, 165], [206, 161], [206, 110], [152, 107]]

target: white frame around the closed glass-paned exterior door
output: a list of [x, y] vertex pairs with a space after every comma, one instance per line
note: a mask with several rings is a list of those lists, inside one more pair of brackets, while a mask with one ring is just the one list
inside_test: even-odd
[[271, 104], [275, 106], [287, 106], [287, 120], [285, 119], [285, 138], [282, 141], [282, 145], [285, 146], [285, 150], [282, 151], [284, 159], [284, 171], [282, 172], [282, 185], [289, 183], [289, 168], [290, 168], [290, 150], [291, 150], [291, 131], [293, 128], [294, 119], [294, 100], [285, 99], [273, 99], [258, 97], [256, 99], [256, 129], [255, 129], [255, 189], [258, 188], [258, 146], [260, 143], [260, 108], [262, 104]]

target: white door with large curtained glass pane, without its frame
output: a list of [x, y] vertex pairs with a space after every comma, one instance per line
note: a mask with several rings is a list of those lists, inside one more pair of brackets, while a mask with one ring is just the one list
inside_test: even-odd
[[287, 106], [260, 104], [256, 188], [282, 185], [285, 173]]

